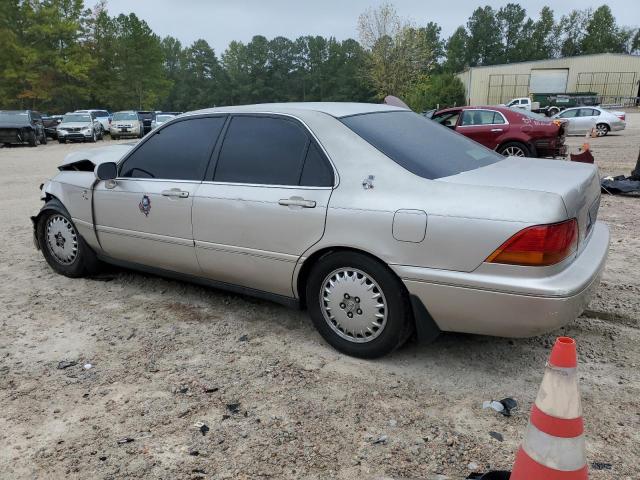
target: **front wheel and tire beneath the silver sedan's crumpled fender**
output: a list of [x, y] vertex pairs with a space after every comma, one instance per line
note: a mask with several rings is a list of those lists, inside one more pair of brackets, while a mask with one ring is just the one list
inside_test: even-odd
[[77, 278], [98, 270], [96, 254], [86, 244], [69, 214], [56, 200], [48, 202], [38, 218], [36, 235], [49, 266], [61, 275]]

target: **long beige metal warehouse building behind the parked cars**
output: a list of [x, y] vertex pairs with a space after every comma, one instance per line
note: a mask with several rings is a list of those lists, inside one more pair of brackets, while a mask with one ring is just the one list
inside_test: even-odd
[[494, 105], [530, 93], [595, 92], [602, 103], [640, 96], [640, 56], [617, 53], [472, 67], [458, 74], [468, 105]]

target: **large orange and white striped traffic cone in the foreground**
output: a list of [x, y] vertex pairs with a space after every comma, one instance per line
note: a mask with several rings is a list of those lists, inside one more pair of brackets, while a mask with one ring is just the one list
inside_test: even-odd
[[556, 340], [510, 480], [589, 478], [576, 342]]

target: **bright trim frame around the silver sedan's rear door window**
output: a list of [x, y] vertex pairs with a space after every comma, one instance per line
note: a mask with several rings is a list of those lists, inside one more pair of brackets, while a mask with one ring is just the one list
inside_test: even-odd
[[[244, 187], [263, 187], [263, 188], [264, 187], [266, 187], [266, 188], [288, 188], [288, 189], [295, 189], [295, 190], [333, 190], [334, 188], [337, 188], [338, 185], [340, 184], [340, 176], [338, 175], [338, 170], [336, 169], [333, 160], [331, 159], [331, 157], [329, 156], [329, 154], [325, 150], [324, 145], [322, 145], [322, 143], [318, 140], [318, 137], [315, 135], [315, 133], [299, 117], [296, 117], [295, 115], [291, 115], [291, 114], [288, 114], [288, 113], [277, 113], [277, 112], [238, 112], [238, 113], [234, 112], [234, 113], [230, 113], [228, 115], [229, 115], [229, 118], [227, 119], [227, 122], [225, 123], [224, 127], [222, 128], [222, 131], [220, 132], [219, 141], [217, 142], [216, 147], [214, 148], [214, 151], [213, 151], [213, 154], [212, 154], [212, 158], [211, 158], [211, 161], [209, 163], [209, 167], [207, 168], [207, 171], [205, 173], [205, 178], [202, 181], [203, 184], [206, 184], [206, 185], [232, 185], [232, 186], [244, 186]], [[216, 182], [215, 180], [213, 180], [215, 178], [216, 168], [218, 166], [218, 161], [220, 159], [220, 152], [222, 150], [222, 146], [224, 145], [224, 139], [225, 139], [225, 137], [227, 135], [227, 130], [229, 129], [229, 125], [231, 125], [231, 121], [235, 117], [277, 118], [277, 119], [285, 119], [285, 120], [291, 121], [293, 123], [296, 123], [299, 127], [302, 128], [302, 130], [305, 131], [305, 133], [307, 134], [307, 137], [308, 137], [307, 147], [305, 148], [305, 156], [304, 156], [303, 161], [302, 161], [300, 175], [302, 175], [302, 169], [304, 169], [304, 162], [305, 162], [305, 159], [306, 159], [306, 154], [307, 154], [307, 152], [309, 150], [309, 146], [313, 142], [313, 143], [315, 143], [316, 147], [320, 151], [321, 156], [324, 157], [325, 161], [329, 162], [329, 165], [331, 166], [331, 168], [333, 170], [333, 186], [329, 186], [329, 187], [314, 187], [314, 186], [303, 186], [303, 185], [274, 185], [274, 184], [271, 184], [271, 183]], [[298, 178], [298, 181], [300, 181], [300, 178]]]

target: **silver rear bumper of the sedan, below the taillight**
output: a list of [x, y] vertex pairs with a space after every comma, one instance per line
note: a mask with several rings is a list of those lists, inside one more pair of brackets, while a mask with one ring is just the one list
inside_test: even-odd
[[584, 311], [600, 283], [608, 248], [609, 229], [598, 222], [578, 257], [548, 277], [497, 278], [398, 265], [393, 268], [440, 330], [530, 337], [566, 325]]

